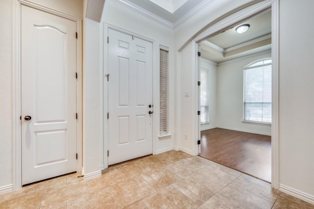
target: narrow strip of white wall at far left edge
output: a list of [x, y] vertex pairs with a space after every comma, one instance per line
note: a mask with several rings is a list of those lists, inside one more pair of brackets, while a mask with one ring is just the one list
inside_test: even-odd
[[12, 1], [0, 2], [0, 190], [13, 183]]

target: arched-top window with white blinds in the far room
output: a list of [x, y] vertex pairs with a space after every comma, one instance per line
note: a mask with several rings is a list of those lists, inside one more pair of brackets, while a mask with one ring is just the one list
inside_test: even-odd
[[271, 58], [244, 68], [244, 121], [271, 124]]

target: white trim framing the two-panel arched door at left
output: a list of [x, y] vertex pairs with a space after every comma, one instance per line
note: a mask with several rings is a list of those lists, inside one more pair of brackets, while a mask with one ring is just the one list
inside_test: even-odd
[[[82, 68], [81, 68], [81, 20], [62, 12], [35, 4], [26, 0], [13, 1], [13, 189], [22, 187], [22, 162], [21, 162], [21, 5], [29, 6], [71, 21], [76, 22], [77, 39], [77, 172], [82, 168]], [[75, 76], [75, 75], [74, 75]]]

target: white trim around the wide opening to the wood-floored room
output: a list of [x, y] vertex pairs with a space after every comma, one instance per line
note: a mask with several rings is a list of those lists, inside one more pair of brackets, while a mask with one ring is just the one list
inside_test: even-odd
[[[217, 32], [229, 28], [250, 18], [251, 16], [262, 12], [263, 10], [271, 8], [272, 9], [272, 139], [271, 139], [271, 185], [273, 188], [279, 188], [279, 0], [265, 0], [260, 3], [253, 4], [247, 8], [231, 14], [230, 16], [220, 20], [216, 24], [210, 26], [208, 29], [197, 35], [192, 40], [192, 66], [194, 66], [195, 71], [192, 72], [192, 80], [195, 80], [195, 85], [192, 85], [192, 92], [198, 95], [198, 88], [196, 87], [198, 81], [198, 43], [203, 41], [205, 38], [216, 34]], [[193, 103], [192, 109], [195, 113], [198, 111], [198, 97], [195, 96], [196, 103]], [[198, 124], [199, 118], [195, 114], [194, 121], [195, 127], [193, 135], [195, 141], [192, 143], [192, 154], [198, 155]]]

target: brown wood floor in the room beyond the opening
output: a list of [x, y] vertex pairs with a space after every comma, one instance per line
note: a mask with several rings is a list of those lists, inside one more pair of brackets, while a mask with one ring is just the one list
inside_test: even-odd
[[201, 131], [200, 156], [271, 182], [271, 136], [219, 128]]

